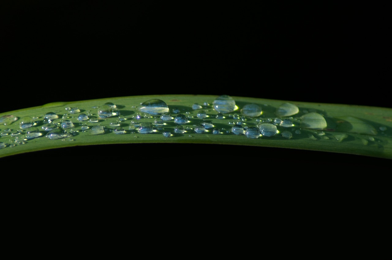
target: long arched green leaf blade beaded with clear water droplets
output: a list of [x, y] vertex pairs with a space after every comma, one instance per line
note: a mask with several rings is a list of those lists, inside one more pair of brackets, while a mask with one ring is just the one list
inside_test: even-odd
[[[236, 102], [236, 110], [234, 112], [224, 114], [224, 119], [216, 119], [218, 112], [212, 108], [212, 103], [217, 96], [209, 95], [149, 95], [149, 96], [129, 96], [129, 97], [112, 97], [107, 99], [93, 99], [74, 102], [56, 102], [45, 104], [40, 107], [24, 108], [20, 110], [5, 112], [0, 114], [2, 125], [0, 130], [3, 133], [0, 142], [4, 148], [0, 149], [0, 157], [27, 153], [39, 150], [64, 148], [71, 146], [85, 146], [96, 144], [126, 144], [126, 143], [201, 143], [201, 144], [232, 144], [241, 146], [267, 146], [277, 148], [293, 148], [302, 150], [313, 150], [334, 153], [348, 153], [354, 155], [365, 155], [369, 157], [379, 157], [392, 159], [392, 109], [382, 107], [367, 107], [341, 104], [324, 104], [309, 102], [293, 102], [273, 99], [260, 99], [252, 97], [234, 96]], [[162, 126], [163, 130], [171, 132], [170, 137], [164, 137], [163, 130], [154, 130], [151, 134], [138, 133], [137, 130], [130, 130], [131, 120], [137, 122], [153, 123], [157, 116], [144, 117], [136, 119], [140, 111], [137, 109], [141, 103], [150, 99], [160, 99], [164, 101], [171, 115], [185, 114], [188, 116], [189, 122], [185, 128], [188, 130], [183, 134], [174, 133], [174, 127], [177, 125], [174, 120], [165, 121]], [[114, 134], [115, 126], [111, 126], [112, 121], [118, 120], [117, 116], [111, 116], [100, 119], [96, 123], [86, 123], [89, 129], [82, 131], [79, 126], [77, 117], [80, 113], [90, 113], [97, 115], [96, 106], [101, 106], [107, 102], [114, 103], [120, 112], [120, 115], [126, 120], [120, 121], [120, 126], [125, 130], [125, 134]], [[199, 104], [202, 108], [193, 110], [193, 104]], [[209, 103], [209, 106], [203, 105]], [[291, 117], [279, 117], [280, 119], [290, 119], [294, 126], [283, 127], [277, 126], [278, 134], [267, 137], [260, 135], [258, 138], [247, 138], [245, 135], [236, 135], [231, 132], [233, 123], [238, 121], [233, 117], [234, 114], [241, 116], [241, 108], [247, 104], [256, 104], [262, 108], [262, 114], [259, 117], [247, 117], [242, 126], [260, 125], [262, 121], [267, 119], [275, 119], [277, 111], [282, 115], [282, 110], [278, 109], [282, 104], [290, 103], [299, 108], [299, 112]], [[59, 139], [49, 139], [45, 137], [46, 131], [42, 129], [43, 115], [48, 112], [54, 112], [60, 119], [56, 119], [57, 123], [61, 123], [62, 115], [68, 113], [65, 108], [77, 107], [80, 113], [69, 114], [68, 120], [71, 120], [77, 132], [72, 135]], [[284, 105], [282, 109], [287, 107]], [[177, 113], [172, 112], [177, 108]], [[291, 109], [291, 108], [290, 108]], [[194, 126], [200, 125], [203, 119], [196, 116], [197, 112], [205, 110], [209, 117], [205, 118], [212, 121], [214, 127], [220, 129], [220, 134], [212, 134], [212, 129], [198, 134], [194, 132]], [[294, 110], [295, 111], [295, 110]], [[143, 113], [142, 113], [143, 114]], [[10, 123], [6, 120], [15, 116], [18, 119]], [[22, 117], [38, 117], [35, 119], [34, 126], [38, 128], [40, 136], [24, 139], [24, 143], [18, 143], [15, 135], [11, 135], [12, 131], [23, 130], [20, 128]], [[261, 121], [260, 121], [261, 120]], [[11, 120], [12, 121], [12, 120]], [[6, 123], [6, 125], [4, 125]], [[106, 131], [104, 134], [91, 134], [93, 126], [103, 126]], [[283, 124], [284, 125], [284, 124]], [[9, 128], [11, 132], [4, 131]], [[282, 135], [282, 133], [284, 133]], [[290, 134], [291, 133], [291, 134]], [[15, 132], [14, 132], [15, 134]], [[22, 132], [25, 134], [26, 132]], [[286, 136], [286, 138], [284, 137]], [[290, 138], [291, 136], [291, 138]], [[63, 141], [64, 140], [64, 141]]]

